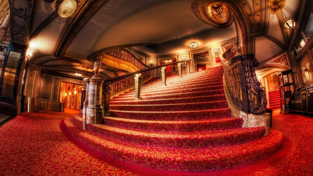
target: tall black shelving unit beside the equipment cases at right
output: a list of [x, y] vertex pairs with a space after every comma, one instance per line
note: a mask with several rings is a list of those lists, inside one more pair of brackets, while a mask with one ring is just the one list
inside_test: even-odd
[[[280, 113], [289, 112], [290, 98], [293, 92], [295, 92], [295, 83], [292, 70], [281, 71], [278, 75], [279, 91], [280, 91]], [[282, 100], [285, 100], [282, 103]]]

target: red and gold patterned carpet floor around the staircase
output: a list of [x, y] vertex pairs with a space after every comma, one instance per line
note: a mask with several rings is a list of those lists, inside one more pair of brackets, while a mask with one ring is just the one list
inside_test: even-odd
[[25, 112], [0, 127], [0, 175], [313, 175], [313, 118], [298, 113], [274, 110], [273, 129], [284, 142], [270, 158], [205, 173], [141, 168], [93, 151], [64, 127], [64, 118], [74, 113]]

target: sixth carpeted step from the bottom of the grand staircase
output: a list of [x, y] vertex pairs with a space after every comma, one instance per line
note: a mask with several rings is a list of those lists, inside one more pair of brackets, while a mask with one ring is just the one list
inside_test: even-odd
[[198, 96], [186, 98], [172, 98], [172, 99], [159, 99], [159, 100], [129, 100], [129, 101], [110, 101], [110, 105], [168, 105], [168, 104], [182, 104], [182, 103], [199, 103], [209, 101], [224, 101], [225, 95], [213, 96]]

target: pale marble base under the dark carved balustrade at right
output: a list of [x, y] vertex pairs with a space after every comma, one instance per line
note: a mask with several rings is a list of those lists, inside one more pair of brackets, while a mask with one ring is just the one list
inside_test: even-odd
[[242, 127], [249, 128], [249, 127], [265, 127], [264, 136], [269, 134], [270, 123], [271, 123], [271, 116], [269, 113], [264, 114], [247, 114], [243, 111], [240, 111], [239, 117], [244, 119], [244, 123]]

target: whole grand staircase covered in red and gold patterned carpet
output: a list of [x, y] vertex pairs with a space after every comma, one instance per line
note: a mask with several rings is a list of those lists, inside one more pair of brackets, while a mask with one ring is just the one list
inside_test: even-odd
[[223, 90], [223, 67], [161, 78], [110, 100], [111, 116], [87, 124], [74, 114], [64, 123], [90, 148], [138, 166], [171, 171], [214, 171], [251, 164], [274, 154], [283, 135], [264, 127], [242, 128], [230, 117]]

